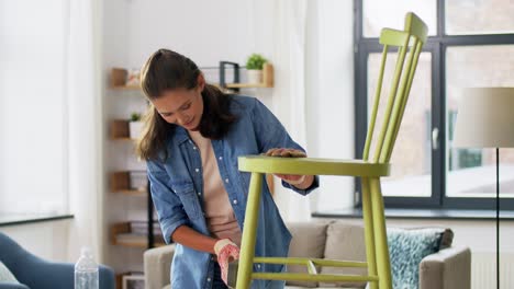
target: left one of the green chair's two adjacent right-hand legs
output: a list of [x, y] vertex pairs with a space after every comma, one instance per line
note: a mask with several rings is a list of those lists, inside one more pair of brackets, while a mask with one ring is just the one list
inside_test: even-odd
[[[375, 251], [373, 216], [369, 194], [369, 178], [362, 177], [362, 217], [365, 223], [366, 259], [368, 262], [368, 275], [377, 276], [377, 255]], [[378, 282], [370, 282], [370, 289], [378, 289]]]

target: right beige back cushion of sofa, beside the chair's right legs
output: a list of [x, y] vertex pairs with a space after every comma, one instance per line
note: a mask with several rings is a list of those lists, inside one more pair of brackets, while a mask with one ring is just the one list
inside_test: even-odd
[[[344, 221], [336, 221], [328, 226], [326, 231], [325, 258], [340, 261], [359, 261], [366, 262], [366, 245], [364, 236], [364, 228], [357, 224], [348, 224]], [[366, 268], [337, 268], [323, 267], [322, 274], [351, 274], [366, 275]], [[323, 287], [358, 287], [365, 288], [366, 284], [357, 282], [338, 282], [325, 284], [320, 282]]]

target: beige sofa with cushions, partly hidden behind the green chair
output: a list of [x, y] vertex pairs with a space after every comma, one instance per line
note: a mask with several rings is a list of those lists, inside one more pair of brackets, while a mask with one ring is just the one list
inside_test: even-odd
[[[338, 220], [288, 223], [288, 228], [293, 235], [289, 250], [291, 257], [366, 261], [364, 228], [359, 224], [349, 224]], [[424, 241], [420, 236], [428, 236], [423, 240], [433, 240], [435, 245], [424, 246]], [[431, 239], [431, 236], [435, 238]], [[409, 281], [414, 279], [420, 289], [471, 288], [471, 252], [468, 247], [452, 246], [451, 241], [452, 232], [449, 229], [388, 228], [393, 287], [415, 288], [415, 285], [409, 285]], [[144, 253], [146, 289], [169, 289], [174, 248], [175, 245], [171, 244], [150, 248]], [[410, 262], [417, 264], [409, 268]], [[289, 266], [288, 271], [306, 273], [306, 269]], [[365, 274], [366, 269], [323, 267], [319, 268], [319, 271], [321, 274]], [[404, 276], [407, 280], [401, 280]], [[333, 287], [365, 288], [366, 285], [288, 281], [286, 286], [289, 289]]]

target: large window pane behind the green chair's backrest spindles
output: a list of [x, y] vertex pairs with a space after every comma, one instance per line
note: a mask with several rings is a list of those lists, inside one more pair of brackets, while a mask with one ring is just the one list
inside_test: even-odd
[[[372, 108], [381, 54], [370, 54], [368, 59], [368, 112]], [[394, 69], [395, 57], [388, 56], [383, 76], [382, 96], [377, 115], [373, 140], [381, 128], [381, 119], [387, 104], [390, 79]], [[383, 178], [384, 196], [429, 197], [432, 195], [432, 56], [422, 53], [417, 63], [400, 128], [394, 151], [391, 157], [392, 172]], [[368, 116], [369, 119], [369, 116]], [[373, 147], [370, 155], [373, 155]]]

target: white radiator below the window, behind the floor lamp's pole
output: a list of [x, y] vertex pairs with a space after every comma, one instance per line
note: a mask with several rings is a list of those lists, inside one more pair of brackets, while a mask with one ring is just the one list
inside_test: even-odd
[[[501, 252], [500, 252], [501, 253]], [[514, 288], [514, 254], [500, 256], [500, 289]], [[472, 253], [471, 288], [496, 288], [496, 253]]]

